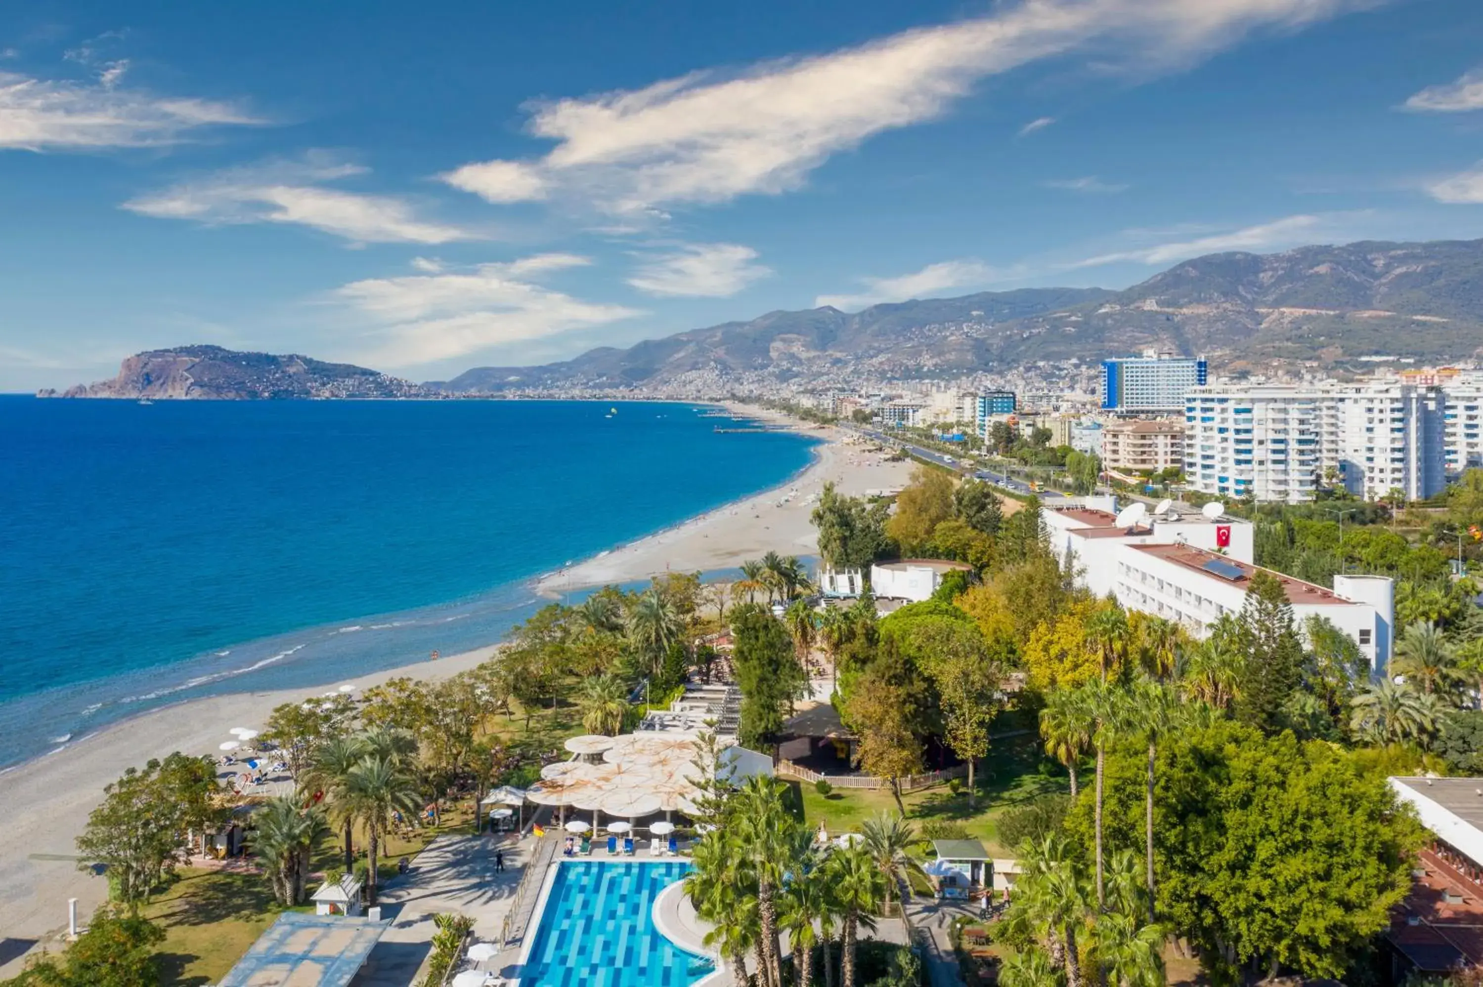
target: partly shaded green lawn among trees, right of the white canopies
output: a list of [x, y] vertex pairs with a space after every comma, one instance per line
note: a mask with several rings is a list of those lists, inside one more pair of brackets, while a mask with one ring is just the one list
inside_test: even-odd
[[[931, 820], [958, 822], [991, 854], [1008, 857], [1008, 848], [998, 842], [998, 817], [1038, 796], [1069, 790], [1065, 772], [1046, 759], [1034, 735], [998, 742], [979, 765], [974, 781], [973, 808], [965, 790], [954, 794], [948, 785], [934, 785], [903, 796], [906, 818], [918, 827]], [[888, 788], [835, 788], [828, 796], [808, 782], [798, 782], [798, 788], [804, 821], [811, 828], [823, 824], [830, 834], [857, 833], [869, 817], [896, 812]]]

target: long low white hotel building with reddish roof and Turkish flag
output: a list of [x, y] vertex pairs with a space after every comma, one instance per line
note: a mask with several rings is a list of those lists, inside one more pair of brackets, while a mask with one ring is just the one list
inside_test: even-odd
[[[1047, 505], [1041, 517], [1057, 557], [1097, 596], [1114, 596], [1130, 611], [1183, 624], [1204, 637], [1225, 614], [1240, 614], [1256, 566], [1249, 522], [1201, 514], [1148, 516], [1121, 528], [1115, 499], [1086, 498], [1074, 507]], [[1379, 671], [1390, 661], [1394, 584], [1388, 576], [1336, 575], [1333, 588], [1272, 572], [1292, 603], [1299, 628], [1317, 614], [1358, 645]]]

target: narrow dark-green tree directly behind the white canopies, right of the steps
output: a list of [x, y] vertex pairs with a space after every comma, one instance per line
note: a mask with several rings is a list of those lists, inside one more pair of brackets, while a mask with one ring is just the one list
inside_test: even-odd
[[767, 748], [782, 734], [785, 714], [804, 695], [808, 679], [787, 628], [761, 606], [733, 608], [731, 634], [731, 665], [742, 689], [740, 741]]

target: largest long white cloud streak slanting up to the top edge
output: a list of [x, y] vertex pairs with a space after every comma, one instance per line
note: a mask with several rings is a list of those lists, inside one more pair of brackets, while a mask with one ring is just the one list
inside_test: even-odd
[[980, 79], [1096, 49], [1137, 74], [1179, 68], [1258, 28], [1295, 30], [1382, 0], [1023, 0], [988, 18], [860, 47], [696, 73], [537, 107], [544, 157], [466, 164], [449, 184], [491, 202], [565, 196], [617, 213], [799, 187], [832, 154], [945, 114]]

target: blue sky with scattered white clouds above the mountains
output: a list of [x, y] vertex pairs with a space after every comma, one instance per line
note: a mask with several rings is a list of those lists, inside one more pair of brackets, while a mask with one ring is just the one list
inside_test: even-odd
[[7, 4], [0, 219], [0, 390], [1474, 239], [1483, 4]]

